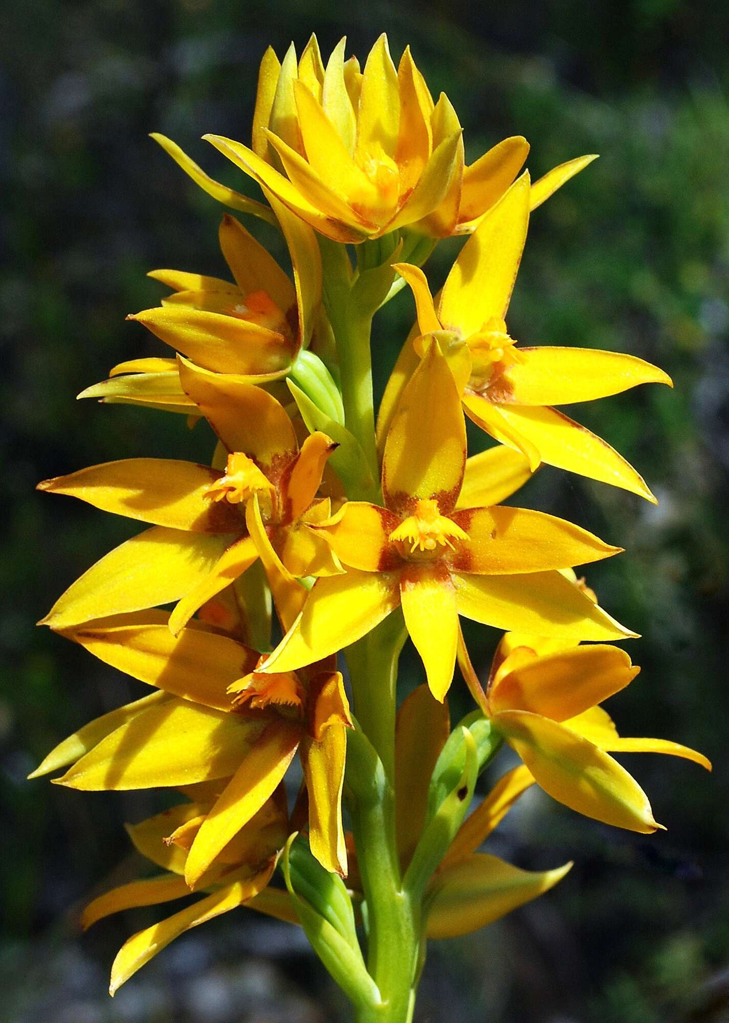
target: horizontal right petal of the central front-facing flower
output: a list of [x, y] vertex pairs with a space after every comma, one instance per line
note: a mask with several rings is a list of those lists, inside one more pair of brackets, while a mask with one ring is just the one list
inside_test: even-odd
[[449, 564], [459, 572], [545, 572], [598, 562], [623, 550], [565, 519], [529, 508], [505, 504], [464, 508], [454, 511], [452, 519], [469, 538], [448, 555]]

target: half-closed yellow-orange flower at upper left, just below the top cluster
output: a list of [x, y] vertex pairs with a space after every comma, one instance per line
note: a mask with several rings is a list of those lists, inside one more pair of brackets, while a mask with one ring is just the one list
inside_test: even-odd
[[[286, 237], [294, 280], [229, 215], [219, 228], [222, 254], [234, 282], [181, 270], [152, 270], [149, 277], [173, 288], [162, 305], [127, 317], [194, 363], [251, 384], [285, 376], [311, 340], [321, 302], [321, 259], [313, 231], [271, 198]], [[115, 366], [110, 379], [79, 398], [141, 404], [196, 414], [174, 358], [141, 358]]]

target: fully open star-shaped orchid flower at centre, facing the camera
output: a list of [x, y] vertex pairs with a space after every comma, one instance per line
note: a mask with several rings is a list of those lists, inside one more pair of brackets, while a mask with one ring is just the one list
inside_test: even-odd
[[385, 506], [347, 501], [329, 522], [310, 527], [327, 537], [347, 572], [316, 581], [265, 671], [318, 661], [360, 638], [398, 605], [438, 700], [453, 677], [459, 615], [574, 639], [632, 635], [557, 571], [619, 548], [539, 511], [457, 509], [465, 463], [459, 394], [431, 344], [388, 434]]

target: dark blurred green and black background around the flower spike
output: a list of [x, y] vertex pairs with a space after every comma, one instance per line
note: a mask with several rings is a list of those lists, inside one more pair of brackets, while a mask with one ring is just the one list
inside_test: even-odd
[[[417, 1019], [476, 1023], [729, 1020], [729, 818], [725, 758], [729, 469], [729, 8], [724, 0], [12, 0], [0, 33], [0, 1019], [12, 1023], [275, 1023], [346, 1019], [301, 933], [242, 910], [186, 935], [112, 1002], [122, 941], [159, 910], [81, 936], [89, 893], [138, 864], [124, 820], [145, 794], [82, 794], [25, 776], [56, 742], [140, 687], [34, 628], [59, 592], [138, 531], [35, 483], [135, 455], [209, 455], [204, 428], [74, 396], [134, 355], [161, 353], [128, 312], [154, 305], [146, 270], [220, 274], [222, 208], [147, 138], [162, 131], [214, 176], [248, 189], [206, 143], [248, 140], [258, 61], [317, 33], [360, 58], [387, 31], [445, 90], [475, 159], [531, 143], [532, 177], [601, 159], [540, 209], [512, 304], [526, 344], [654, 360], [676, 389], [575, 409], [647, 478], [657, 508], [543, 470], [519, 495], [628, 548], [590, 581], [643, 673], [608, 709], [626, 735], [694, 745], [715, 762], [626, 757], [667, 834], [577, 817], [539, 793], [492, 851], [527, 868], [575, 866], [551, 894], [471, 937], [432, 943]], [[251, 189], [251, 193], [253, 190]], [[250, 223], [247, 226], [251, 226]], [[258, 227], [254, 227], [258, 231]], [[272, 240], [271, 234], [262, 235]], [[430, 264], [442, 278], [457, 243]], [[382, 386], [413, 316], [381, 317]], [[496, 642], [472, 630], [483, 667]], [[405, 658], [404, 684], [421, 680]], [[460, 683], [453, 714], [468, 709]], [[502, 766], [504, 766], [502, 764]]]

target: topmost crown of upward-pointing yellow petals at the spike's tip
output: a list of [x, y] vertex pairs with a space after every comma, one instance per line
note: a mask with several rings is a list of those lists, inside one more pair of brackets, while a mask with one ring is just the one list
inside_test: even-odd
[[[297, 62], [292, 44], [283, 61], [263, 56], [252, 146], [204, 136], [315, 230], [357, 242], [403, 227], [433, 237], [470, 233], [518, 174], [529, 151], [517, 135], [475, 163], [464, 164], [462, 128], [444, 93], [433, 101], [408, 47], [397, 68], [387, 36], [360, 73], [344, 59], [346, 39], [327, 64], [315, 37]], [[209, 194], [265, 216], [265, 208], [226, 189], [162, 135], [153, 135]], [[540, 206], [594, 155], [560, 165], [535, 183]], [[276, 211], [277, 215], [277, 211]]]

